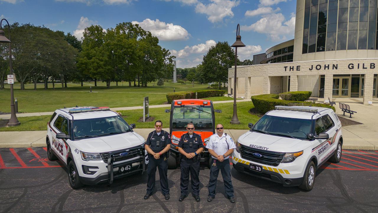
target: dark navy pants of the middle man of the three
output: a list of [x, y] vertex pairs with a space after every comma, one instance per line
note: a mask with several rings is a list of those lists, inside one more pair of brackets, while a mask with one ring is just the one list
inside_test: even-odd
[[[194, 158], [197, 158], [197, 156]], [[198, 177], [200, 175], [200, 162], [194, 158], [181, 158], [180, 189], [181, 195], [183, 196], [186, 196], [188, 193], [189, 173], [191, 177], [192, 194], [196, 196], [200, 193], [200, 179]]]

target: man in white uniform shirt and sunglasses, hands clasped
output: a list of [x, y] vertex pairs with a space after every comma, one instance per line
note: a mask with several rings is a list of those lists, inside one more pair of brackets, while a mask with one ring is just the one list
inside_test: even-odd
[[211, 202], [215, 197], [215, 188], [217, 186], [217, 179], [219, 170], [222, 172], [223, 182], [225, 183], [225, 191], [231, 203], [235, 202], [234, 187], [231, 182], [231, 168], [229, 156], [236, 148], [232, 138], [223, 133], [223, 125], [217, 125], [217, 133], [210, 136], [209, 142], [206, 145], [211, 157], [213, 158], [213, 164], [210, 168], [210, 180], [209, 180], [209, 197], [208, 201]]

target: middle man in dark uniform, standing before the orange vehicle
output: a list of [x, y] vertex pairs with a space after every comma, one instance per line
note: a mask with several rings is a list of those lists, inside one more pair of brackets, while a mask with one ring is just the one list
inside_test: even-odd
[[186, 126], [187, 133], [181, 136], [178, 143], [178, 151], [181, 154], [181, 177], [180, 189], [181, 195], [179, 201], [183, 201], [187, 196], [189, 173], [191, 176], [192, 196], [195, 201], [200, 201], [200, 161], [199, 154], [203, 151], [201, 136], [194, 133], [194, 124], [189, 123]]

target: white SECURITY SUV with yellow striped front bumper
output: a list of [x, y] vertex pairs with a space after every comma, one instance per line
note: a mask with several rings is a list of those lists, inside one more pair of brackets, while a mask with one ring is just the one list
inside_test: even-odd
[[330, 108], [276, 106], [248, 127], [232, 153], [239, 172], [310, 191], [316, 169], [341, 159], [341, 122]]

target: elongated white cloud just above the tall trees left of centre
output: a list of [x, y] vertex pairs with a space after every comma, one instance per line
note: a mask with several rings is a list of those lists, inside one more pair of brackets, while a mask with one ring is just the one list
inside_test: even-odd
[[143, 22], [133, 21], [133, 24], [139, 24], [141, 28], [150, 31], [152, 35], [161, 41], [178, 41], [189, 39], [190, 34], [180, 25], [173, 23], [161, 22], [159, 19], [144, 19]]

